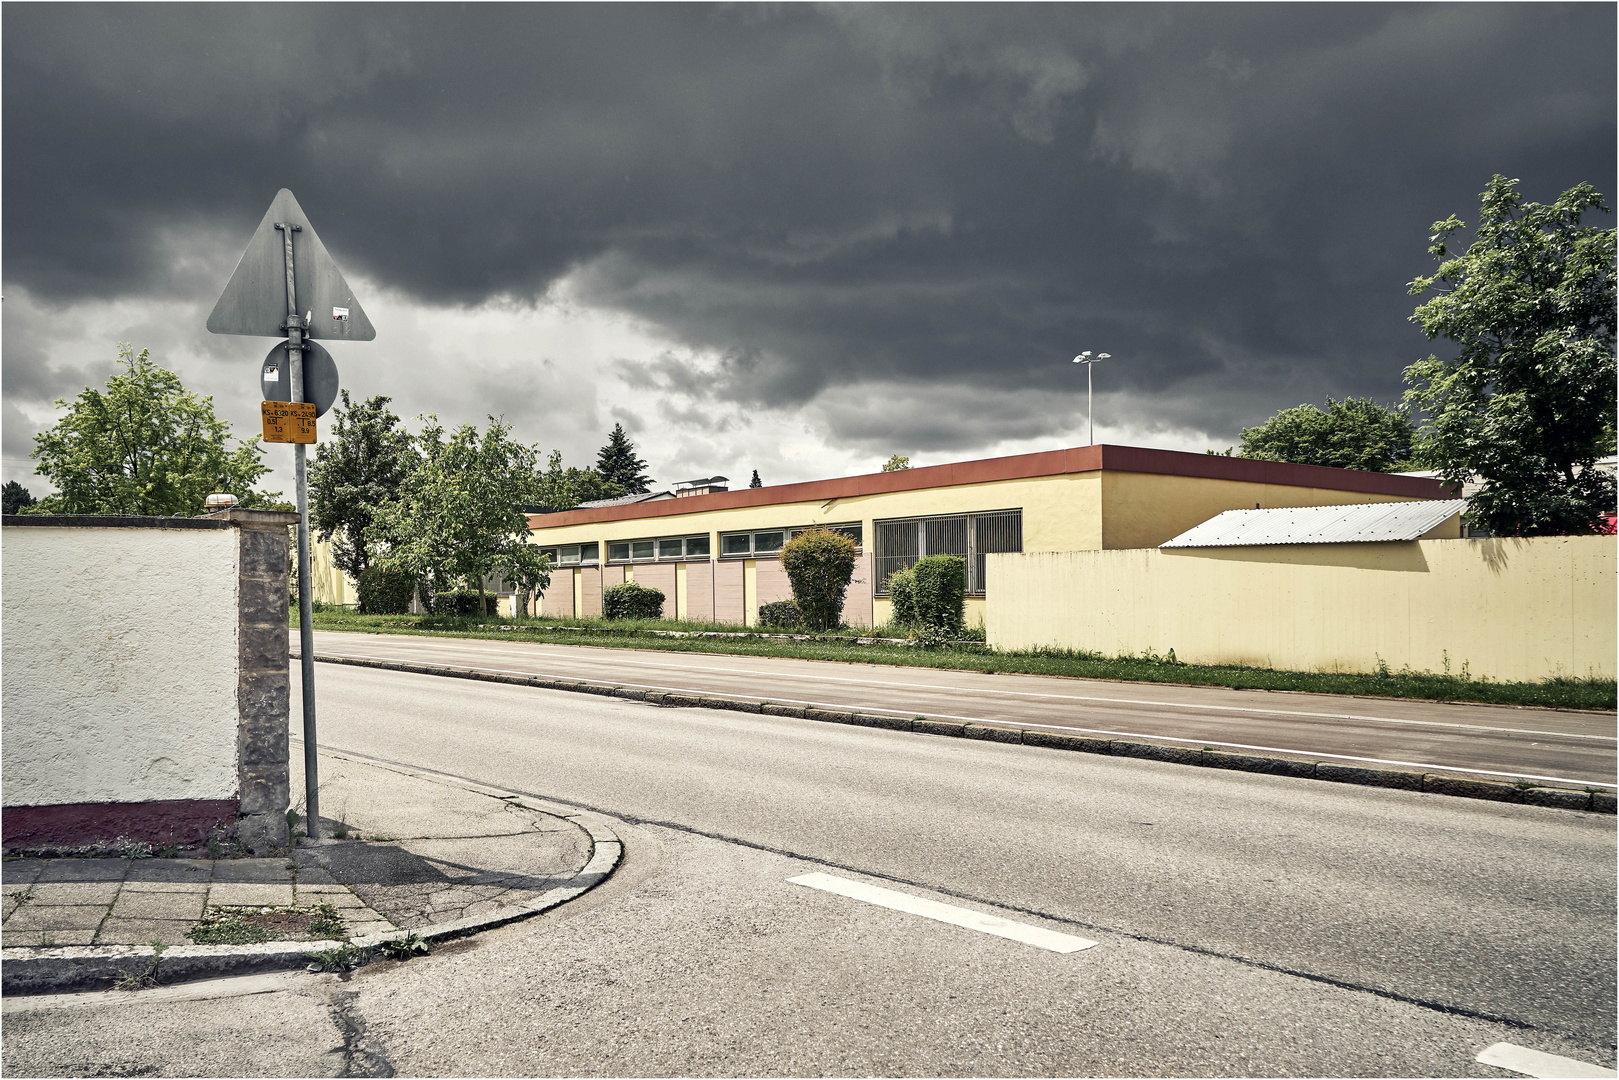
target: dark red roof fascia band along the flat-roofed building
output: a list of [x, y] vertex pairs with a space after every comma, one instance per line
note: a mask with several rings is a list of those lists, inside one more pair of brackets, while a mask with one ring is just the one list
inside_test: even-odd
[[562, 510], [560, 513], [536, 513], [528, 518], [533, 528], [560, 528], [567, 525], [591, 525], [597, 521], [627, 521], [631, 518], [669, 518], [682, 513], [706, 513], [709, 510], [737, 510], [743, 507], [772, 507], [795, 502], [827, 502], [852, 495], [879, 495], [895, 491], [921, 491], [928, 487], [955, 487], [960, 484], [988, 484], [1001, 479], [1030, 479], [1035, 476], [1062, 476], [1069, 473], [1156, 473], [1161, 476], [1201, 476], [1208, 479], [1234, 479], [1253, 484], [1285, 484], [1290, 487], [1326, 487], [1331, 491], [1363, 491], [1373, 495], [1405, 495], [1410, 499], [1444, 499], [1449, 489], [1436, 479], [1420, 476], [1391, 476], [1387, 473], [1362, 473], [1357, 470], [1324, 468], [1319, 465], [1287, 465], [1284, 461], [1255, 461], [1227, 458], [1214, 453], [1185, 453], [1182, 450], [1148, 450], [1145, 447], [1070, 447], [1041, 453], [1017, 453], [1004, 458], [978, 461], [952, 461], [926, 465], [897, 473], [865, 473], [814, 479], [803, 484], [777, 484], [774, 487], [743, 487], [720, 491], [711, 495], [688, 495], [661, 502], [636, 502], [623, 507], [593, 507], [586, 510]]

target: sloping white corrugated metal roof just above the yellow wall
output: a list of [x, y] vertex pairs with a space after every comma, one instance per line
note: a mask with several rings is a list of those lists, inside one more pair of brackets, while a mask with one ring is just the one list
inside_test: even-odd
[[1159, 547], [1365, 544], [1417, 539], [1467, 508], [1465, 499], [1357, 502], [1341, 507], [1227, 510]]

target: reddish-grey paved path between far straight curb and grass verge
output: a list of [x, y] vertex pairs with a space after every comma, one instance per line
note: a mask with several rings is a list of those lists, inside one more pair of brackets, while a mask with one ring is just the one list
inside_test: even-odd
[[314, 640], [317, 656], [366, 656], [784, 704], [1149, 735], [1200, 746], [1336, 755], [1457, 776], [1604, 787], [1619, 779], [1613, 712], [468, 638], [316, 631]]

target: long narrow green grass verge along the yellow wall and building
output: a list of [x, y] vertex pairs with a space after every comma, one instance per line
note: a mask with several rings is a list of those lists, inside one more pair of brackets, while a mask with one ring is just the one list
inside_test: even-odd
[[[298, 625], [298, 612], [291, 612]], [[1153, 657], [1104, 657], [1085, 653], [1036, 649], [992, 653], [983, 646], [921, 649], [903, 644], [852, 644], [860, 631], [826, 635], [818, 640], [669, 638], [654, 630], [686, 633], [746, 633], [759, 628], [733, 623], [674, 622], [665, 619], [614, 622], [599, 619], [452, 619], [432, 615], [355, 615], [317, 612], [316, 630], [351, 633], [405, 633], [429, 638], [491, 638], [499, 641], [544, 641], [547, 644], [589, 644], [609, 649], [657, 649], [664, 653], [722, 653], [730, 656], [780, 656], [806, 661], [850, 664], [892, 664], [895, 667], [941, 667], [970, 672], [1057, 675], [1069, 678], [1111, 678], [1120, 682], [1172, 683], [1188, 687], [1230, 687], [1234, 690], [1290, 690], [1298, 693], [1357, 695], [1375, 698], [1417, 698], [1426, 701], [1468, 701], [1543, 709], [1613, 709], [1614, 680], [1554, 678], [1540, 683], [1501, 683], [1431, 672], [1391, 672], [1387, 675], [1284, 672], [1263, 667], [1201, 667]], [[570, 627], [610, 630], [580, 633]], [[882, 628], [868, 633], [882, 633]]]

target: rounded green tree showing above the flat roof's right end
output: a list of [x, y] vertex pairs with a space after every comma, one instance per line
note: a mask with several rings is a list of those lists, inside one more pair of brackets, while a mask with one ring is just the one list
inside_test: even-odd
[[1363, 398], [1284, 408], [1258, 427], [1242, 429], [1242, 457], [1294, 465], [1329, 465], [1371, 473], [1407, 466], [1417, 427], [1400, 408]]

